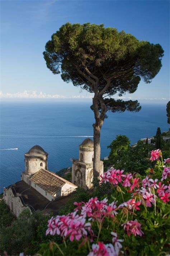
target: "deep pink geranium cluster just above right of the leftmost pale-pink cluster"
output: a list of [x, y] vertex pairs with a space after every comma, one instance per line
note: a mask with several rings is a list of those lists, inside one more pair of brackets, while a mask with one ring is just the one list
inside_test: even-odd
[[104, 198], [99, 201], [97, 197], [91, 198], [88, 202], [75, 202], [74, 205], [77, 207], [75, 210], [80, 210], [81, 215], [86, 217], [91, 217], [92, 219], [97, 219], [98, 221], [102, 221], [105, 216], [114, 217], [117, 215], [117, 206], [116, 202], [107, 203], [108, 199]]

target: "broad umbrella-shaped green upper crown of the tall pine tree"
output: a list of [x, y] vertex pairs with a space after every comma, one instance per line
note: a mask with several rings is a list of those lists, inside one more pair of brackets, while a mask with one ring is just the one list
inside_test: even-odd
[[103, 24], [61, 26], [46, 44], [44, 59], [63, 81], [99, 95], [134, 93], [141, 78], [150, 83], [161, 68], [164, 50], [159, 44]]

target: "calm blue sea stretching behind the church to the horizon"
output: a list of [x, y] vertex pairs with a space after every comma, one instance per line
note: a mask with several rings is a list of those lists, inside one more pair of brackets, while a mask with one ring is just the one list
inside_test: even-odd
[[[24, 153], [36, 144], [48, 152], [49, 170], [71, 166], [83, 136], [93, 135], [93, 122], [90, 102], [1, 103], [1, 191], [20, 180]], [[101, 130], [101, 157], [108, 156], [107, 145], [117, 134], [135, 143], [155, 135], [158, 126], [169, 129], [166, 105], [143, 104], [139, 113], [110, 113]], [[10, 148], [18, 150], [2, 150]]]

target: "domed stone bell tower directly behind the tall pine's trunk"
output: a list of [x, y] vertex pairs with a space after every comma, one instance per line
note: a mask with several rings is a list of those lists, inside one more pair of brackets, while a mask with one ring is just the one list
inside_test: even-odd
[[[93, 181], [93, 140], [85, 139], [79, 145], [79, 159], [72, 162], [72, 183], [84, 189], [92, 187]], [[103, 173], [103, 162], [100, 161], [100, 174]]]

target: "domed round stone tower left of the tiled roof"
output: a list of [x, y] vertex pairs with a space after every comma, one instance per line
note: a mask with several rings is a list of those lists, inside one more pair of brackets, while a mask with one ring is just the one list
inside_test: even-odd
[[47, 170], [48, 153], [38, 145], [32, 147], [25, 153], [25, 175], [32, 175], [40, 169]]

